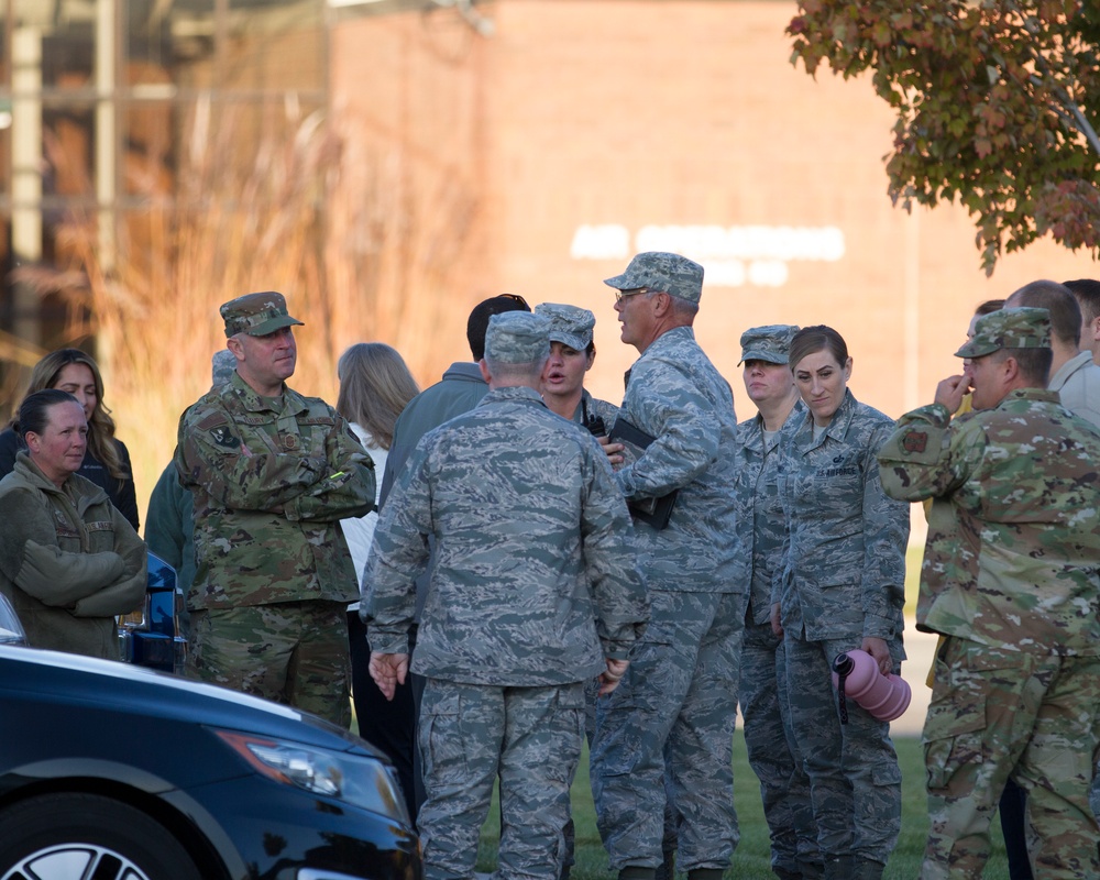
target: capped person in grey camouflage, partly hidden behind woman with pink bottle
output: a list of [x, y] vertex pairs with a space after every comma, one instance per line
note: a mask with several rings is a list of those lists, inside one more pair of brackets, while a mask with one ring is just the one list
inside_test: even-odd
[[810, 779], [794, 741], [783, 639], [771, 626], [771, 592], [782, 568], [787, 528], [779, 498], [783, 426], [805, 414], [787, 364], [798, 327], [754, 327], [741, 334], [745, 391], [758, 413], [737, 426], [737, 528], [751, 563], [741, 647], [740, 704], [749, 765], [760, 780], [771, 832], [771, 869], [782, 880], [822, 873]]

